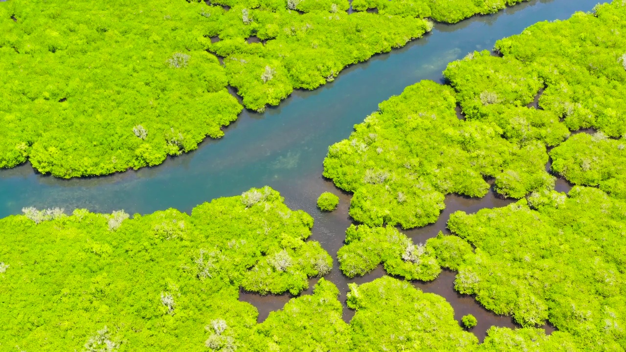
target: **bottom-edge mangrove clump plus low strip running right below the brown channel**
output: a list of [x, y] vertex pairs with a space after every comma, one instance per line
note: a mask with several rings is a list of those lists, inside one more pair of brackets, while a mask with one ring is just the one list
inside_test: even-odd
[[572, 338], [543, 329], [492, 327], [483, 344], [463, 331], [441, 296], [409, 282], [382, 277], [352, 284], [347, 304], [356, 309], [350, 322], [352, 351], [574, 351]]

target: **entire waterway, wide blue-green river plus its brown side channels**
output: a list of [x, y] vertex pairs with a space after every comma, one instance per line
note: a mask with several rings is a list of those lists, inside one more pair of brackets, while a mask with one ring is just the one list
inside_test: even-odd
[[[590, 11], [597, 0], [533, 0], [491, 16], [478, 16], [459, 24], [436, 24], [433, 33], [392, 53], [374, 56], [351, 66], [339, 77], [314, 91], [295, 91], [277, 108], [264, 114], [244, 111], [225, 130], [220, 140], [207, 140], [198, 150], [170, 158], [163, 165], [108, 177], [59, 180], [33, 172], [29, 164], [0, 170], [0, 217], [19, 214], [23, 207], [87, 208], [95, 212], [125, 209], [146, 214], [169, 207], [190, 211], [207, 200], [238, 195], [250, 187], [270, 185], [281, 192], [287, 205], [303, 209], [315, 219], [312, 239], [335, 255], [350, 223], [349, 195], [322, 179], [322, 160], [329, 145], [347, 138], [352, 125], [376, 110], [380, 101], [398, 95], [419, 80], [441, 81], [449, 61], [470, 51], [491, 49], [497, 39], [520, 33], [538, 21], [567, 19], [575, 11]], [[565, 188], [565, 184], [560, 187]], [[338, 210], [322, 214], [315, 207], [317, 196], [329, 190], [341, 195]], [[561, 190], [561, 189], [560, 189]], [[483, 207], [508, 204], [490, 194], [483, 199], [446, 197], [446, 210], [437, 224], [406, 232], [424, 242], [445, 229], [454, 210], [475, 212]], [[382, 276], [381, 269], [347, 279], [337, 269], [326, 276], [336, 283], [345, 299], [347, 282], [367, 282]], [[491, 325], [513, 326], [511, 318], [482, 309], [471, 297], [453, 291], [453, 272], [439, 279], [416, 283], [426, 292], [444, 296], [453, 305], [456, 318], [472, 313], [479, 321], [473, 332], [480, 339]], [[254, 303], [260, 318], [282, 308], [288, 296], [260, 298], [242, 294]], [[344, 318], [352, 316], [344, 309]]]

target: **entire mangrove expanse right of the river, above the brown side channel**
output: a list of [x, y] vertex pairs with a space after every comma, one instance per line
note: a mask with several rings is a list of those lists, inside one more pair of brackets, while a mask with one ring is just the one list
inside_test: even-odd
[[[552, 189], [542, 166], [546, 148], [560, 145], [570, 129], [588, 127], [603, 133], [594, 137], [602, 142], [585, 148], [578, 142], [587, 137], [572, 138], [553, 150], [553, 170], [624, 197], [623, 141], [602, 136], [626, 133], [618, 112], [626, 105], [626, 42], [619, 34], [626, 5], [596, 11], [535, 24], [498, 41], [501, 57], [483, 51], [451, 63], [444, 71], [449, 86], [423, 81], [381, 103], [324, 160], [324, 176], [354, 192], [350, 215], [409, 228], [434, 222], [445, 194], [485, 195], [489, 177], [505, 197]], [[542, 90], [540, 109], [526, 107]], [[457, 103], [464, 120], [455, 115]]]

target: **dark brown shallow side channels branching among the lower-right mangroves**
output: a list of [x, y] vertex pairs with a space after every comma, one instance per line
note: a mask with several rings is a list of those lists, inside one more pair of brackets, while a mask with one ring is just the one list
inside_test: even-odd
[[[321, 170], [319, 170], [321, 174]], [[563, 180], [564, 181], [564, 180]], [[565, 182], [565, 181], [564, 181]], [[567, 185], [567, 182], [565, 182]], [[565, 186], [566, 192], [571, 189], [569, 185]], [[314, 200], [322, 192], [332, 192], [339, 196], [339, 207], [334, 212], [326, 213], [320, 212], [315, 206]], [[348, 215], [348, 209], [350, 204], [351, 195], [341, 192], [336, 189], [331, 181], [324, 179], [323, 177], [311, 177], [307, 180], [295, 183], [288, 190], [283, 190], [287, 205], [289, 207], [295, 207], [303, 209], [309, 214], [313, 214], [316, 218], [316, 225], [313, 227], [313, 233], [311, 239], [319, 241], [324, 249], [326, 249], [334, 259], [334, 265], [332, 271], [324, 276], [327, 280], [334, 282], [340, 290], [340, 301], [344, 303], [344, 315], [343, 318], [346, 322], [349, 322], [354, 316], [354, 311], [348, 309], [345, 306], [347, 285], [350, 282], [356, 282], [357, 284], [363, 284], [365, 282], [371, 282], [378, 277], [384, 276], [386, 273], [382, 266], [377, 267], [374, 271], [369, 272], [362, 277], [354, 277], [352, 279], [344, 276], [339, 271], [339, 264], [336, 261], [336, 254], [339, 248], [344, 244], [344, 234], [347, 227], [352, 224], [352, 219]], [[446, 209], [441, 212], [439, 219], [436, 223], [419, 227], [411, 230], [401, 230], [414, 243], [424, 243], [429, 238], [437, 236], [439, 231], [443, 231], [445, 234], [449, 234], [449, 230], [446, 228], [450, 214], [458, 210], [475, 213], [480, 209], [504, 207], [508, 204], [515, 202], [512, 199], [501, 199], [500, 196], [493, 192], [493, 189], [483, 198], [469, 198], [461, 195], [449, 194], [446, 196], [445, 204]], [[444, 270], [439, 274], [439, 277], [434, 281], [422, 282], [413, 281], [415, 287], [418, 287], [424, 292], [431, 292], [443, 296], [446, 298], [454, 308], [454, 318], [458, 321], [465, 314], [473, 314], [478, 319], [478, 325], [471, 329], [471, 332], [482, 341], [485, 338], [486, 331], [491, 326], [505, 326], [509, 328], [515, 328], [516, 324], [513, 323], [513, 319], [510, 316], [498, 316], [497, 314], [486, 310], [480, 304], [476, 302], [473, 296], [466, 296], [458, 294], [454, 291], [454, 276], [456, 272]], [[315, 285], [317, 279], [310, 282], [309, 290], [302, 294], [310, 294], [312, 286]], [[240, 300], [254, 304], [259, 309], [259, 321], [264, 321], [271, 311], [282, 308], [289, 299], [292, 298], [289, 294], [282, 296], [260, 296], [259, 294], [241, 292]], [[551, 333], [553, 328], [546, 325], [544, 327], [547, 333]]]

